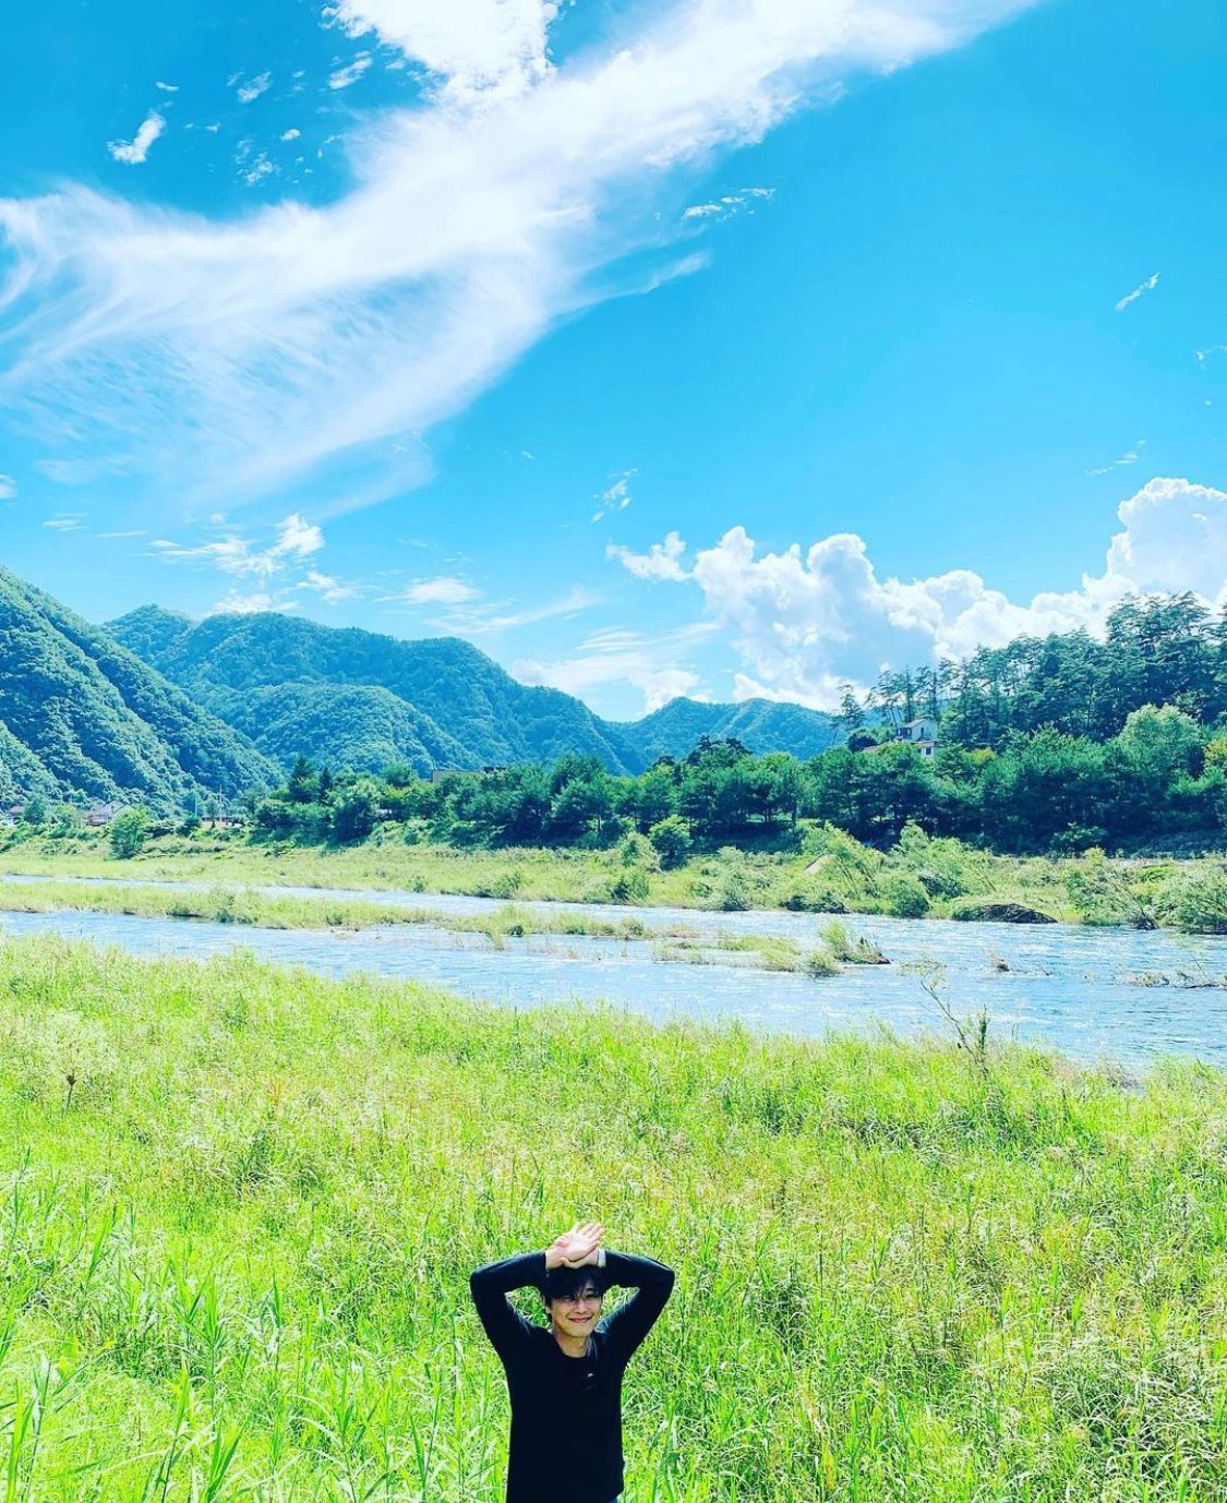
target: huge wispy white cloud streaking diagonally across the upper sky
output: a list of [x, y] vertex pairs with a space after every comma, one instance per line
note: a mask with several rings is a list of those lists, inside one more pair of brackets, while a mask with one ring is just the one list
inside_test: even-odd
[[[627, 257], [647, 253], [635, 290], [699, 269], [669, 240], [716, 153], [839, 77], [893, 72], [1030, 3], [669, 0], [553, 68], [543, 0], [343, 0], [338, 24], [435, 80], [353, 126], [352, 189], [235, 219], [84, 186], [0, 201], [0, 397], [30, 421], [71, 415], [93, 448], [122, 442], [144, 475], [189, 469], [195, 502], [386, 448], [624, 293]], [[233, 83], [250, 101], [269, 81]]]

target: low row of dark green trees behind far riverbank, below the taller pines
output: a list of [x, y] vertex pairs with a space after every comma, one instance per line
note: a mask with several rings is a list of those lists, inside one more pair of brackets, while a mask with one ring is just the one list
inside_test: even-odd
[[386, 821], [459, 846], [592, 848], [638, 831], [666, 863], [693, 846], [779, 842], [798, 819], [874, 845], [892, 845], [913, 824], [1006, 852], [1206, 830], [1227, 822], [1227, 736], [1167, 705], [1134, 711], [1104, 742], [1045, 726], [1012, 730], [1000, 748], [938, 745], [932, 759], [892, 742], [801, 762], [702, 739], [638, 777], [585, 756], [439, 782], [403, 767], [334, 777], [299, 758], [253, 812], [259, 836], [307, 843], [362, 840]]

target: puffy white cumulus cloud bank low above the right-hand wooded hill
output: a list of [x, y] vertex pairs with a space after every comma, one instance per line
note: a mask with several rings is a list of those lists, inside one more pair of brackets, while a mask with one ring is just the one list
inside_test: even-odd
[[[910, 582], [880, 579], [865, 541], [851, 532], [806, 550], [794, 543], [782, 553], [759, 553], [744, 528], [732, 528], [695, 555], [689, 573], [647, 573], [650, 555], [639, 555], [641, 568], [632, 571], [699, 588], [707, 618], [741, 660], [738, 699], [830, 709], [844, 682], [868, 687], [887, 666], [962, 658], [1022, 634], [1078, 627], [1101, 633], [1128, 594], [1191, 589], [1212, 606], [1227, 603], [1227, 493], [1155, 478], [1123, 500], [1117, 516], [1120, 531], [1098, 573], [1083, 574], [1078, 589], [1045, 591], [1027, 603], [962, 568]], [[678, 543], [677, 559], [681, 552]]]

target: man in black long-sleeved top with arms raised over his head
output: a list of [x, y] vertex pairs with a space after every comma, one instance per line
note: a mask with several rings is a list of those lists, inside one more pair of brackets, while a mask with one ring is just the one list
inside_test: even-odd
[[[597, 1222], [576, 1222], [544, 1252], [469, 1279], [511, 1396], [507, 1503], [618, 1503], [623, 1491], [623, 1372], [665, 1309], [674, 1270], [607, 1254], [603, 1235]], [[601, 1318], [610, 1285], [638, 1293]], [[507, 1299], [526, 1287], [541, 1291], [549, 1326]]]

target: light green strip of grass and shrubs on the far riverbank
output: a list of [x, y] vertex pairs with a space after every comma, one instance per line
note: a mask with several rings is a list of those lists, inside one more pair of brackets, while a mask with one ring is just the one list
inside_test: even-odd
[[[116, 860], [105, 833], [98, 833], [69, 840], [11, 840], [0, 845], [0, 867], [42, 878], [105, 881], [122, 873], [220, 888], [353, 888], [368, 894], [367, 906], [380, 906], [380, 890], [398, 890], [502, 902], [723, 911], [783, 908], [835, 915], [1059, 920], [1227, 933], [1227, 872], [1216, 858], [1113, 860], [1098, 849], [1077, 857], [1001, 857], [961, 840], [928, 836], [919, 825], [905, 825], [899, 840], [880, 851], [833, 825], [801, 821], [791, 849], [725, 846], [672, 866], [636, 833], [607, 851], [472, 851], [418, 842], [406, 845], [397, 827], [380, 827], [362, 845], [341, 849], [302, 849], [284, 842], [253, 845], [242, 831], [220, 836], [194, 831], [149, 840], [131, 860]], [[135, 902], [131, 896], [122, 900]], [[188, 894], [183, 902], [200, 903], [201, 899]], [[272, 914], [268, 906], [262, 911]], [[371, 912], [356, 914], [340, 906], [337, 912], [338, 923], [380, 921]], [[404, 911], [398, 912], [403, 921]], [[287, 899], [274, 921], [295, 921], [292, 915], [293, 902]], [[209, 914], [192, 912], [191, 917]]]

